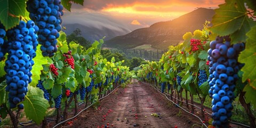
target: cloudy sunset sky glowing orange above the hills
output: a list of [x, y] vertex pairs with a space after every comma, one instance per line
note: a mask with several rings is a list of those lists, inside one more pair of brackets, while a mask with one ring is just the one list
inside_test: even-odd
[[[215, 9], [225, 0], [84, 0], [84, 6], [73, 4], [65, 12], [64, 23], [82, 23], [127, 30], [149, 27], [195, 10]], [[189, 20], [189, 19], [188, 19]]]

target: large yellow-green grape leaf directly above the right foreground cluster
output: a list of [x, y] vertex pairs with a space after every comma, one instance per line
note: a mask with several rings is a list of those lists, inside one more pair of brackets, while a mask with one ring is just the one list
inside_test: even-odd
[[246, 36], [244, 35], [255, 25], [255, 22], [247, 16], [244, 1], [227, 0], [225, 4], [219, 6], [219, 9], [215, 9], [213, 26], [209, 29], [220, 36], [231, 34], [233, 44], [245, 42]]

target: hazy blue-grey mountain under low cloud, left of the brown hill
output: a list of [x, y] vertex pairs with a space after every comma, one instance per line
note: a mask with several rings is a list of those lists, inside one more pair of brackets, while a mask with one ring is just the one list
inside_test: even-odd
[[72, 24], [63, 24], [67, 29], [63, 30], [67, 35], [71, 34], [76, 28], [79, 28], [82, 31], [82, 35], [85, 39], [90, 42], [94, 42], [95, 40], [99, 41], [103, 36], [106, 36], [104, 40], [111, 39], [117, 35], [123, 35], [130, 33], [130, 30], [126, 28], [118, 28], [118, 29], [111, 29], [107, 27], [93, 27], [87, 26], [86, 24], [82, 25], [79, 23], [72, 23]]

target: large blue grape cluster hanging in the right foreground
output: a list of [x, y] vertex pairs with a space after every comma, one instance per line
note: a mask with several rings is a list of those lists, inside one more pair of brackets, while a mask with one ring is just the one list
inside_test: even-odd
[[[223, 43], [224, 42], [224, 43]], [[213, 125], [228, 127], [233, 109], [231, 104], [235, 98], [235, 82], [238, 80], [238, 71], [243, 64], [237, 62], [239, 52], [243, 51], [244, 43], [230, 44], [230, 38], [217, 37], [210, 43], [208, 60], [210, 61], [208, 79], [212, 99]]]

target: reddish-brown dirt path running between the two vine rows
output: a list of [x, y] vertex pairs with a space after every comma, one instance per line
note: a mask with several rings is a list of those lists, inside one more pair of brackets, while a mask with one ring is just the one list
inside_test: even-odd
[[197, 118], [140, 83], [119, 88], [103, 99], [99, 108], [85, 111], [70, 127], [201, 127]]

